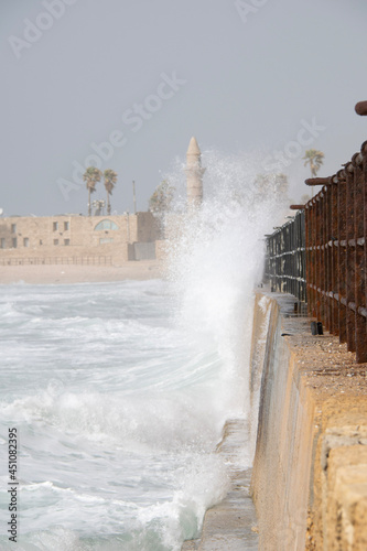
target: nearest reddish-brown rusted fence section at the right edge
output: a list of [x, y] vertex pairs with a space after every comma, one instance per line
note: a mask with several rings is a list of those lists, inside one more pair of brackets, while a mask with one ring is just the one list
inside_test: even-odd
[[[366, 143], [305, 205], [309, 314], [367, 361]], [[319, 179], [317, 179], [319, 180]]]

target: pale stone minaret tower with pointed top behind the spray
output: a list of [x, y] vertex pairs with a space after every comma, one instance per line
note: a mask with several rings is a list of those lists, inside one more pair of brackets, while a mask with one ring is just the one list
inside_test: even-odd
[[185, 169], [188, 210], [199, 207], [203, 202], [203, 174], [205, 170], [202, 168], [202, 153], [196, 138], [193, 137], [188, 143]]

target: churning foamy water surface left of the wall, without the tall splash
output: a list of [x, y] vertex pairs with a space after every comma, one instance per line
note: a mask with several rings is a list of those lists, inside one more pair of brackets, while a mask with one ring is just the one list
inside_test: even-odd
[[223, 359], [161, 281], [2, 288], [1, 549], [8, 428], [18, 549], [180, 549], [226, 491]]

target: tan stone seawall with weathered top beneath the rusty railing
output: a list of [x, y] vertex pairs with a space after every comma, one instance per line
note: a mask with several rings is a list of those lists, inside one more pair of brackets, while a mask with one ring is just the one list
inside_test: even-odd
[[[294, 296], [256, 296], [251, 493], [259, 549], [367, 549], [366, 364], [312, 335]], [[258, 415], [257, 415], [258, 413]]]

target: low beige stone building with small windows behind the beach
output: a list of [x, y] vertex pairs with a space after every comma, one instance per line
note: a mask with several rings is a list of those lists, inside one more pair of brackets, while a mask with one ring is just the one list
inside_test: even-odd
[[0, 218], [0, 264], [120, 264], [155, 258], [151, 213]]

